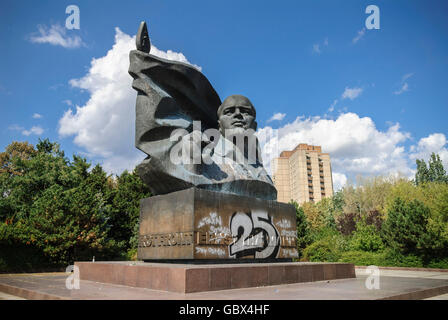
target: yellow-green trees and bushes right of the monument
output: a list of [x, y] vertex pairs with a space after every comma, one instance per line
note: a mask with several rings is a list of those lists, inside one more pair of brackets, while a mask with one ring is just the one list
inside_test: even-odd
[[417, 161], [415, 181], [360, 178], [299, 208], [311, 235], [302, 260], [448, 268], [448, 180], [438, 155], [428, 166]]

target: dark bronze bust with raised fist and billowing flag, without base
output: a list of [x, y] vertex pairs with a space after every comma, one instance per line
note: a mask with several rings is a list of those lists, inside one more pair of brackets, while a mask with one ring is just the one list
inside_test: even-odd
[[135, 145], [147, 154], [137, 172], [152, 193], [196, 187], [276, 200], [250, 100], [232, 95], [221, 102], [196, 68], [151, 55], [145, 22], [136, 42], [129, 54], [137, 91]]

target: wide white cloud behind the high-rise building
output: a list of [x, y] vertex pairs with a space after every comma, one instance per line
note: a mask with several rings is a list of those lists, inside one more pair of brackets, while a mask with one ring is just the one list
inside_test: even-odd
[[412, 176], [409, 157], [402, 144], [410, 134], [399, 124], [379, 131], [369, 117], [355, 113], [340, 114], [336, 120], [321, 117], [297, 119], [279, 129], [269, 126], [258, 132], [265, 166], [281, 151], [292, 150], [299, 143], [322, 147], [330, 153], [335, 186], [357, 175], [388, 175], [400, 172]]

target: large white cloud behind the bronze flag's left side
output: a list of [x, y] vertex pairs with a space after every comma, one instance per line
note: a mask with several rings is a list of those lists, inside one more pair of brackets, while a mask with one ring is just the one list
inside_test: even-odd
[[[115, 43], [106, 55], [92, 59], [84, 77], [70, 80], [73, 87], [89, 92], [89, 100], [67, 110], [59, 120], [59, 134], [74, 136], [74, 143], [98, 158], [110, 173], [132, 170], [146, 156], [134, 146], [136, 92], [128, 74], [133, 49], [135, 36], [116, 28]], [[151, 46], [151, 54], [189, 63], [182, 53], [171, 50]]]

